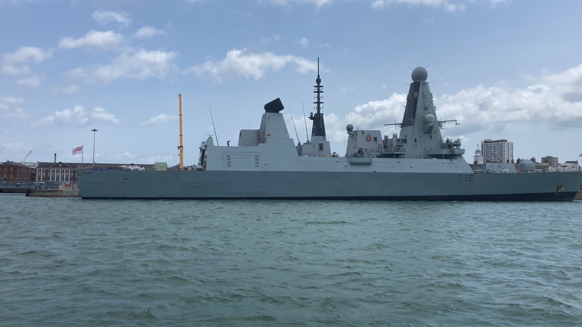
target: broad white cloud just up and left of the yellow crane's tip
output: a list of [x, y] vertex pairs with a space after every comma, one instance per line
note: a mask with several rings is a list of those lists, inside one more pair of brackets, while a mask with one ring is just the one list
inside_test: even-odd
[[87, 84], [108, 84], [121, 78], [144, 80], [148, 77], [164, 77], [175, 69], [172, 62], [175, 56], [175, 52], [144, 49], [124, 52], [109, 65], [79, 67], [67, 72], [66, 76], [70, 80]]

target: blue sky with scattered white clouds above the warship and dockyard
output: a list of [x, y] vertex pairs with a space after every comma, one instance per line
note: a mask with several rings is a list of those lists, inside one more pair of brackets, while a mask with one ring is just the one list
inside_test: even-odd
[[81, 162], [83, 145], [84, 162], [173, 165], [178, 94], [186, 165], [206, 134], [236, 145], [258, 129], [275, 98], [305, 142], [318, 57], [340, 155], [348, 123], [398, 132], [384, 124], [402, 121], [412, 68], [425, 66], [437, 118], [459, 119], [443, 137], [462, 139], [467, 161], [486, 138], [512, 141], [515, 159], [582, 159], [581, 11], [576, 0], [0, 0], [0, 160]]

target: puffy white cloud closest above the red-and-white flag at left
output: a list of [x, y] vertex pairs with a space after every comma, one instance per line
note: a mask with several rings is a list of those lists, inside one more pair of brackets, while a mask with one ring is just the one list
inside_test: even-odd
[[90, 112], [85, 110], [82, 105], [75, 105], [73, 109], [63, 109], [55, 111], [52, 115], [45, 116], [31, 126], [43, 126], [51, 123], [56, 123], [62, 126], [82, 127], [95, 122], [110, 122], [119, 124], [120, 120], [108, 113], [102, 106], [93, 108]]

